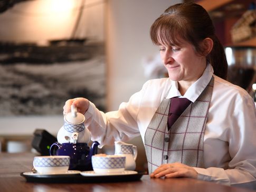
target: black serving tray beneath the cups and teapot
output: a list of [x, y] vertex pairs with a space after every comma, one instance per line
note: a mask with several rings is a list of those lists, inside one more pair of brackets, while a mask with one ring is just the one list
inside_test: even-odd
[[129, 175], [82, 176], [80, 173], [67, 175], [25, 175], [24, 173], [21, 173], [21, 176], [32, 183], [113, 183], [140, 180], [145, 174], [145, 172], [138, 172]]

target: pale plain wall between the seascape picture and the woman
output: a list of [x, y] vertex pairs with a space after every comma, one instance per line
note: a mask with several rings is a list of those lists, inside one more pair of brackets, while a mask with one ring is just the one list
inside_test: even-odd
[[146, 82], [142, 59], [155, 55], [149, 29], [164, 10], [181, 0], [109, 0], [107, 3], [108, 110], [140, 90]]

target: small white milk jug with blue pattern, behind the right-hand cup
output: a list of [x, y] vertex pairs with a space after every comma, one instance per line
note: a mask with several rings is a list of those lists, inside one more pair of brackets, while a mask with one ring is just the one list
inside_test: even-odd
[[137, 154], [138, 151], [135, 145], [120, 141], [115, 142], [115, 155], [122, 155], [126, 157], [125, 170], [135, 170]]

